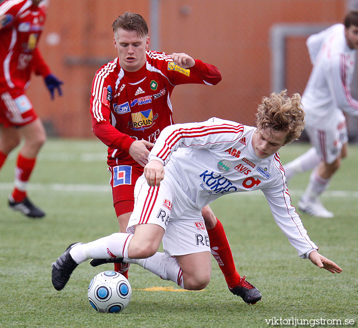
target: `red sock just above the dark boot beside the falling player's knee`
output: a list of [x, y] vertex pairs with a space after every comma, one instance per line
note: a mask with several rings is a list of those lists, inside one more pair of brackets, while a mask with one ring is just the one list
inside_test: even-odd
[[215, 227], [208, 230], [211, 254], [216, 259], [228, 286], [233, 288], [239, 284], [240, 275], [236, 271], [233, 254], [225, 230], [218, 218], [216, 219], [217, 223]]

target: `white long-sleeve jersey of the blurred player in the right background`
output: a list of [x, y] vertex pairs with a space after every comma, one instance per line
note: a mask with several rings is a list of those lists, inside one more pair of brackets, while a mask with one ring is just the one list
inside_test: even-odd
[[344, 25], [311, 35], [307, 48], [314, 65], [302, 95], [307, 125], [329, 128], [338, 122], [341, 111], [358, 116], [358, 101], [350, 92], [356, 50], [347, 45]]

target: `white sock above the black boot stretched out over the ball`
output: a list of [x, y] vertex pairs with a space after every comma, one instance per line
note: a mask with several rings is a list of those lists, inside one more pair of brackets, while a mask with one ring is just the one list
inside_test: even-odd
[[128, 245], [133, 234], [116, 232], [70, 250], [73, 260], [80, 264], [90, 258], [128, 257]]

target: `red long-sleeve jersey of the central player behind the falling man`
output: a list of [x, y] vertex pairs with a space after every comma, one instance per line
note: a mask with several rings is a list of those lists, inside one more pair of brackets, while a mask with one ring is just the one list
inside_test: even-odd
[[116, 58], [103, 65], [93, 80], [93, 132], [108, 146], [109, 166], [140, 166], [129, 155], [129, 147], [135, 140], [154, 143], [162, 129], [173, 124], [170, 96], [175, 85], [214, 85], [221, 80], [219, 70], [201, 60], [183, 69], [165, 53], [147, 51], [146, 57], [137, 72], [124, 71]]

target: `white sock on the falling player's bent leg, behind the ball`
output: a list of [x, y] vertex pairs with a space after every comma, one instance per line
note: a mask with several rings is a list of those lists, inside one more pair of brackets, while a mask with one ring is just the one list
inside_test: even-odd
[[158, 277], [171, 280], [184, 288], [183, 271], [175, 257], [168, 257], [164, 253], [156, 252], [148, 258], [125, 259], [124, 262], [138, 264]]

